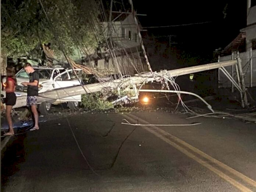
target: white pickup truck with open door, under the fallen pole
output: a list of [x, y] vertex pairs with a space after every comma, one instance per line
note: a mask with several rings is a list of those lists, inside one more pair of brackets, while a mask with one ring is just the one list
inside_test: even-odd
[[[43, 93], [49, 90], [54, 90], [58, 88], [66, 88], [70, 86], [80, 85], [80, 82], [76, 76], [73, 74], [73, 70], [66, 70], [61, 66], [50, 67], [33, 67], [39, 73], [39, 93]], [[77, 73], [82, 72], [81, 69], [75, 69]], [[22, 82], [29, 82], [29, 75], [24, 69], [17, 72], [15, 75], [17, 78], [16, 95], [23, 96], [26, 95], [27, 87], [21, 85]], [[3, 78], [3, 82], [6, 78]], [[5, 97], [5, 92], [2, 91], [3, 97]], [[81, 95], [65, 97], [62, 99], [57, 99], [53, 103], [40, 103], [38, 109], [41, 114], [46, 114], [50, 111], [52, 104], [67, 103], [70, 109], [75, 109], [78, 107], [79, 102], [81, 102]], [[14, 106], [15, 107], [15, 106]]]

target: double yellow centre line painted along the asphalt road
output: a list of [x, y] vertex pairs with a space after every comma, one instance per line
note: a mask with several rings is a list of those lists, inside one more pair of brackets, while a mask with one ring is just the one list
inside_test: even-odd
[[[122, 114], [122, 115], [126, 119], [128, 119], [134, 123], [137, 123], [137, 120], [139, 120], [143, 124], [150, 124], [149, 122], [147, 122], [139, 117], [136, 117], [132, 114]], [[254, 191], [256, 191], [256, 181], [254, 181], [253, 179], [251, 179], [249, 177], [246, 177], [242, 173], [234, 170], [233, 168], [228, 167], [224, 163], [221, 163], [220, 161], [214, 159], [213, 157], [207, 155], [206, 153], [200, 151], [199, 149], [193, 147], [192, 145], [189, 145], [188, 143], [182, 141], [181, 139], [169, 134], [168, 132], [166, 132], [163, 129], [160, 129], [156, 126], [146, 126], [145, 125], [145, 126], [141, 126], [141, 127], [146, 129], [153, 135], [157, 136], [161, 140], [165, 141], [166, 143], [170, 144], [171, 146], [175, 147], [177, 150], [184, 153], [186, 156], [190, 157], [191, 159], [195, 160], [196, 162], [200, 163], [202, 166], [205, 166], [209, 170], [213, 171], [213, 173], [217, 174], [218, 176], [223, 178], [225, 181], [230, 182], [230, 184], [234, 185], [239, 190], [241, 190], [243, 192], [253, 192], [251, 189], [249, 189], [245, 185], [238, 182], [238, 180], [240, 179], [241, 181], [251, 185], [252, 188], [254, 188]], [[204, 160], [204, 159], [217, 165], [218, 167], [221, 167], [223, 170], [228, 171], [233, 176], [235, 176], [239, 179], [236, 180], [234, 178], [231, 178], [229, 175], [223, 173], [223, 171], [221, 171], [220, 169], [207, 163], [206, 160]]]

